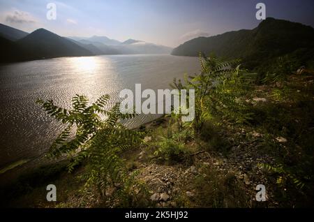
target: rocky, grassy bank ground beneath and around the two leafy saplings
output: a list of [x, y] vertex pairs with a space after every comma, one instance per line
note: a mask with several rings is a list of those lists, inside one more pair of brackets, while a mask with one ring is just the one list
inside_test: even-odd
[[[178, 156], [160, 153], [160, 147], [169, 148], [160, 142], [167, 133], [180, 133], [170, 117], [141, 126], [144, 144], [124, 151], [121, 158], [130, 174], [137, 172], [145, 192], [135, 192], [136, 201], [124, 207], [313, 206], [313, 81], [311, 74], [294, 74], [280, 83], [256, 85], [245, 95], [253, 113], [250, 123], [213, 116], [200, 133], [185, 140]], [[10, 198], [2, 198], [6, 202], [1, 205], [107, 206], [97, 192], [77, 192], [84, 185], [77, 178], [85, 163], [73, 173], [66, 172], [66, 164], [46, 165], [20, 177], [6, 190]], [[45, 199], [47, 184], [57, 186], [57, 202]], [[266, 187], [266, 202], [255, 199], [258, 184]]]

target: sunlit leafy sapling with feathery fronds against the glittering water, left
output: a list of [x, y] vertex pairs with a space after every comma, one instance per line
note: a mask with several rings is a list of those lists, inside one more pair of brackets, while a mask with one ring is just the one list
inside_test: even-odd
[[[141, 133], [129, 130], [120, 124], [120, 119], [132, 118], [133, 114], [121, 114], [119, 103], [106, 109], [110, 96], [98, 98], [89, 105], [86, 96], [76, 95], [72, 99], [72, 109], [59, 108], [53, 101], [39, 100], [37, 103], [52, 117], [66, 124], [50, 147], [49, 156], [66, 154], [71, 162], [68, 170], [87, 161], [82, 176], [86, 190], [98, 189], [101, 197], [107, 196], [108, 189], [117, 184], [127, 184], [128, 174], [119, 158], [119, 153], [140, 144]], [[72, 136], [71, 133], [75, 131]], [[124, 191], [124, 186], [119, 191]]]

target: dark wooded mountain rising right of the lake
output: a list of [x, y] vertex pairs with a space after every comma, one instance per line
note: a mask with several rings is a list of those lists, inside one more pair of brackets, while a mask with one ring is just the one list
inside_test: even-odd
[[252, 30], [194, 38], [174, 48], [172, 54], [195, 57], [199, 52], [214, 53], [225, 59], [242, 59], [246, 67], [254, 68], [287, 54], [306, 63], [313, 59], [313, 49], [312, 27], [269, 17]]

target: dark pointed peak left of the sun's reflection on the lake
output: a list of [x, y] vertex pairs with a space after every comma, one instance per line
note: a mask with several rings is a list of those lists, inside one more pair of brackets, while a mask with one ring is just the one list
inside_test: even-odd
[[16, 43], [29, 53], [27, 59], [93, 55], [84, 47], [46, 29], [37, 29]]

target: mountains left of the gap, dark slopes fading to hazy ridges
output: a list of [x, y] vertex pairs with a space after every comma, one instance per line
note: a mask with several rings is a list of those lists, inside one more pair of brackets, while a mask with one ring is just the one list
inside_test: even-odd
[[99, 54], [170, 54], [172, 48], [141, 40], [121, 43], [105, 36], [61, 37], [46, 29], [31, 34], [0, 24], [0, 62], [27, 61], [54, 57], [80, 57]]

